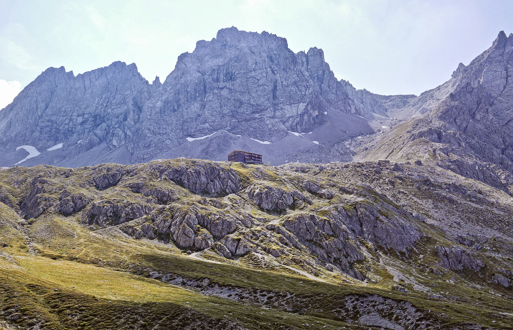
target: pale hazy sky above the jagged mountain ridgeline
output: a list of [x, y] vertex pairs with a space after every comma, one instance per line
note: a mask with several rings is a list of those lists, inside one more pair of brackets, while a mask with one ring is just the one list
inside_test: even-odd
[[178, 55], [230, 26], [322, 48], [358, 89], [418, 95], [513, 32], [513, 1], [0, 0], [0, 109], [52, 66], [76, 75], [121, 60], [164, 81]]

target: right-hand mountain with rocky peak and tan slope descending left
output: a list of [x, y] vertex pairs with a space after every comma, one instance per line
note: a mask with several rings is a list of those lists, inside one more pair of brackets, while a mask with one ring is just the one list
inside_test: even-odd
[[[423, 159], [513, 193], [513, 34], [460, 64], [442, 87], [447, 96], [424, 114], [386, 129], [360, 148], [361, 159]], [[420, 96], [421, 98], [423, 96]], [[411, 111], [410, 99], [404, 111]], [[363, 146], [363, 145], [362, 145]], [[357, 151], [358, 152], [358, 151]]]

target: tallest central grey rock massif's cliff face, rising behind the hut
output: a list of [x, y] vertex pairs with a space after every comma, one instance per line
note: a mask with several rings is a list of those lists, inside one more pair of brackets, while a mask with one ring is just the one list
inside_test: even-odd
[[362, 94], [334, 77], [321, 49], [295, 54], [277, 35], [222, 29], [180, 55], [145, 106], [134, 160], [152, 159], [185, 137], [221, 129], [273, 142], [287, 131], [312, 131], [330, 110], [360, 116], [383, 110]]

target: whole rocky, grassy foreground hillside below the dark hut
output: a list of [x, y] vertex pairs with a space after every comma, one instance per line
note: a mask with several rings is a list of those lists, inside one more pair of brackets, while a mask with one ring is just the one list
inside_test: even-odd
[[513, 201], [433, 164], [0, 170], [7, 329], [508, 329]]

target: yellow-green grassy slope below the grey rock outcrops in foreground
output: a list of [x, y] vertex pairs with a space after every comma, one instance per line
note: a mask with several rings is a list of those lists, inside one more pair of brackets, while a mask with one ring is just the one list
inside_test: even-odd
[[[243, 181], [253, 182], [250, 169], [237, 167], [240, 166], [235, 168]], [[287, 175], [298, 177], [294, 173]], [[283, 269], [250, 269], [249, 265], [244, 267], [244, 263], [230, 264], [230, 260], [213, 264], [193, 259], [172, 243], [155, 244], [148, 240], [95, 234], [79, 224], [78, 216], [63, 217], [45, 212], [31, 219], [25, 231], [37, 252], [32, 255], [28, 253], [28, 242], [22, 232], [12, 226], [21, 219], [6, 207], [0, 208], [0, 212], [4, 220], [0, 222], [0, 242], [8, 243], [0, 255], [0, 307], [3, 311], [0, 319], [9, 319], [11, 324], [23, 327], [41, 323], [43, 328], [55, 329], [201, 328], [194, 322], [202, 320], [208, 328], [208, 324], [225, 319], [232, 320], [224, 325], [227, 328], [237, 324], [247, 328], [302, 328], [304, 323], [313, 323], [316, 327], [359, 329], [368, 327], [343, 322], [337, 316], [337, 308], [342, 308], [339, 302], [349, 296], [368, 294], [410, 301], [421, 310], [438, 313], [437, 317], [446, 328], [471, 321], [506, 329], [512, 320], [499, 314], [513, 310], [508, 300], [443, 280], [425, 278], [423, 284], [436, 284], [437, 290], [457, 293], [463, 299], [439, 300], [419, 291], [391, 291], [389, 285], [394, 283], [393, 277], [377, 263], [370, 263], [369, 272], [384, 279], [377, 285], [324, 283], [283, 272]], [[261, 210], [255, 212], [259, 216], [273, 217]], [[257, 305], [201, 295], [193, 288], [145, 278], [149, 271], [188, 279], [207, 278], [220, 287], [293, 294], [294, 298], [287, 302], [292, 313], [283, 308], [262, 309]], [[54, 288], [58, 291], [54, 292]], [[13, 319], [16, 313], [19, 318]], [[499, 322], [491, 323], [493, 320]]]

